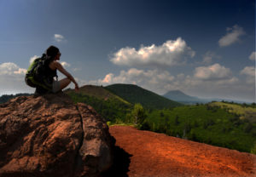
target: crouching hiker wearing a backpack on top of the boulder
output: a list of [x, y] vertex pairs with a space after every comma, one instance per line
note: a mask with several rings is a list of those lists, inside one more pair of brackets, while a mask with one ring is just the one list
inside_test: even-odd
[[[79, 90], [79, 84], [58, 62], [60, 58], [60, 50], [55, 46], [49, 46], [46, 53], [41, 58], [34, 60], [29, 66], [25, 81], [27, 85], [36, 88], [35, 94], [57, 93], [71, 82], [75, 84], [75, 90]], [[57, 70], [61, 71], [66, 78], [58, 81]]]

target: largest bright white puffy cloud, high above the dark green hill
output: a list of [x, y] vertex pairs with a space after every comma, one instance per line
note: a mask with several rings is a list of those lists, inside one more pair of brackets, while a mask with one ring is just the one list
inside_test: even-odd
[[113, 54], [111, 61], [119, 66], [177, 66], [184, 59], [195, 56], [186, 42], [178, 37], [176, 41], [166, 41], [160, 46], [152, 44], [148, 47], [119, 49]]

